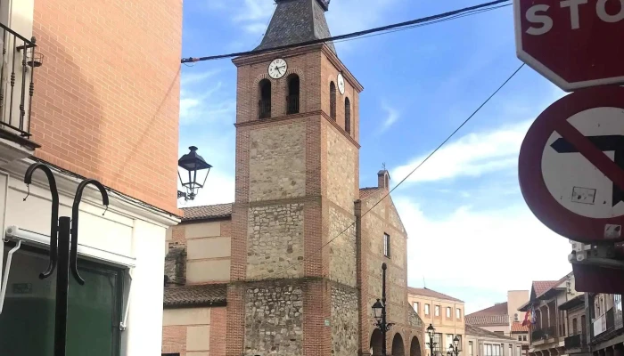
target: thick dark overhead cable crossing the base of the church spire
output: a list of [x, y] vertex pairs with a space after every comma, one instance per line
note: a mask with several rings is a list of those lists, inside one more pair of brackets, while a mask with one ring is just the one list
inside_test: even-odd
[[[247, 52], [219, 54], [219, 55], [213, 55], [213, 56], [208, 56], [208, 57], [199, 57], [199, 58], [189, 57], [189, 58], [183, 58], [181, 62], [182, 63], [192, 63], [192, 62], [196, 62], [196, 61], [214, 61], [214, 60], [221, 60], [221, 59], [225, 59], [225, 58], [234, 58], [234, 57], [239, 57], [239, 56], [246, 56], [246, 55], [253, 55], [253, 54], [261, 54], [261, 53], [282, 51], [282, 50], [287, 50], [287, 49], [291, 49], [291, 48], [305, 47], [305, 46], [313, 45], [313, 44], [324, 44], [325, 42], [340, 42], [342, 40], [352, 39], [352, 38], [366, 36], [366, 35], [371, 35], [371, 34], [374, 34], [374, 33], [377, 33], [377, 32], [390, 33], [390, 32], [394, 32], [392, 30], [419, 27], [419, 26], [415, 26], [415, 25], [424, 26], [425, 24], [437, 23], [437, 22], [440, 22], [441, 20], [453, 20], [453, 19], [455, 19], [457, 17], [464, 17], [464, 16], [467, 16], [467, 15], [470, 15], [470, 14], [479, 13], [479, 12], [482, 12], [483, 10], [484, 11], [491, 11], [491, 10], [498, 9], [500, 7], [504, 7], [504, 6], [492, 7], [492, 6], [496, 6], [496, 5], [500, 5], [500, 4], [505, 4], [504, 6], [507, 6], [507, 5], [511, 4], [511, 0], [491, 1], [489, 3], [478, 4], [478, 5], [474, 5], [474, 6], [470, 6], [470, 7], [464, 7], [463, 9], [459, 9], [459, 10], [455, 10], [455, 11], [451, 11], [451, 12], [439, 13], [437, 15], [423, 17], [421, 19], [409, 20], [409, 21], [395, 23], [395, 24], [388, 25], [388, 26], [382, 26], [380, 28], [365, 29], [363, 31], [357, 31], [357, 32], [353, 32], [353, 33], [350, 33], [350, 34], [346, 34], [346, 35], [332, 36], [332, 37], [327, 37], [327, 38], [320, 38], [320, 39], [316, 39], [316, 40], [312, 40], [312, 41], [300, 42], [300, 43], [297, 43], [297, 44], [279, 45], [279, 46], [275, 46], [275, 47], [272, 47], [272, 48], [265, 48], [265, 49], [261, 49], [261, 50], [253, 50], [253, 51], [247, 51]], [[481, 11], [479, 11], [479, 10], [481, 10]], [[458, 15], [460, 15], [460, 16], [458, 16]], [[464, 15], [464, 16], [461, 16], [461, 15]]]

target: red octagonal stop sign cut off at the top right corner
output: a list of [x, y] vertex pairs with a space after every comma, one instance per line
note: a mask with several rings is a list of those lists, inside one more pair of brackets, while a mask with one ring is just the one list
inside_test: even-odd
[[518, 58], [571, 92], [624, 83], [624, 0], [513, 0]]

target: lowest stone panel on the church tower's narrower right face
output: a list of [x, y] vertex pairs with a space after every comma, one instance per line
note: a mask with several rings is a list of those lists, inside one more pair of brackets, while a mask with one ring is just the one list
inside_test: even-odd
[[357, 291], [332, 287], [332, 355], [357, 355]]

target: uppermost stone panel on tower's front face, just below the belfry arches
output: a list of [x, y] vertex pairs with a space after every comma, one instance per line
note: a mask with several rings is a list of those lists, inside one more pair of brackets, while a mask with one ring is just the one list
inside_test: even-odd
[[306, 194], [306, 125], [293, 123], [250, 133], [250, 202]]

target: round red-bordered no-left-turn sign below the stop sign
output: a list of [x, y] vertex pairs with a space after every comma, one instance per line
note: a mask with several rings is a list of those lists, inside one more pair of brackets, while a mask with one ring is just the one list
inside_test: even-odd
[[554, 102], [521, 145], [519, 180], [533, 214], [584, 243], [624, 241], [624, 87]]

